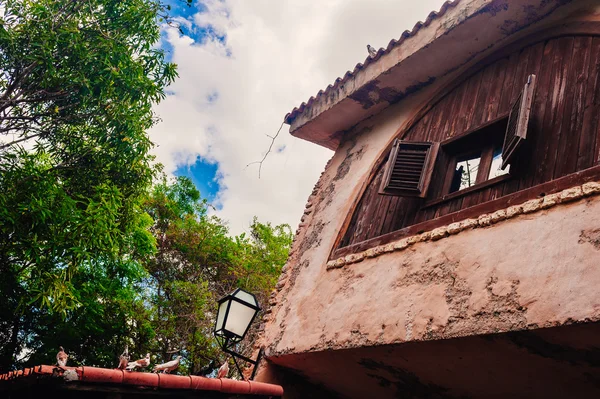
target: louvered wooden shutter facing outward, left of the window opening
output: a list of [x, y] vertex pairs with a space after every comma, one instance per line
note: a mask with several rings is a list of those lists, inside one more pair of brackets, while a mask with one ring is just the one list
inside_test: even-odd
[[396, 139], [385, 165], [379, 193], [424, 198], [438, 149], [439, 143]]

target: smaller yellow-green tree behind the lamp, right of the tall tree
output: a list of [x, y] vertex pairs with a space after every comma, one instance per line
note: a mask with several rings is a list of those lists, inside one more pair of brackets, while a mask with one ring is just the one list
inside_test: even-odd
[[[223, 360], [212, 336], [216, 301], [241, 287], [266, 304], [287, 259], [291, 229], [255, 219], [248, 236], [230, 237], [225, 223], [209, 215], [209, 204], [185, 177], [155, 186], [145, 209], [154, 219], [151, 230], [158, 248], [146, 263], [147, 286], [153, 287], [148, 303], [154, 352], [167, 361], [179, 351], [185, 355], [183, 368], [208, 374]], [[250, 335], [246, 345], [251, 346]]]

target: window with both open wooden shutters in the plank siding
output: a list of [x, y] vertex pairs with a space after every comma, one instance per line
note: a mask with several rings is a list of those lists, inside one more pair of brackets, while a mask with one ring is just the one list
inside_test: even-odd
[[[443, 197], [508, 175], [527, 137], [534, 89], [535, 75], [530, 75], [507, 117], [445, 142], [395, 140], [379, 193], [425, 198], [434, 166], [447, 170]], [[438, 150], [444, 155], [440, 165], [436, 165]]]

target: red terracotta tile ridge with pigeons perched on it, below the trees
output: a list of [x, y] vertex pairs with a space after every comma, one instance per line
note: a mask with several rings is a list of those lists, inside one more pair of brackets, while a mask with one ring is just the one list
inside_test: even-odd
[[[63, 371], [64, 370], [64, 371]], [[27, 379], [34, 381], [41, 376], [62, 378], [65, 371], [74, 371], [77, 380], [92, 384], [133, 385], [158, 389], [187, 389], [192, 391], [217, 391], [237, 395], [282, 396], [283, 388], [279, 385], [256, 381], [237, 381], [229, 378], [206, 378], [199, 376], [181, 376], [174, 374], [141, 373], [99, 367], [63, 367], [40, 365], [25, 370], [10, 371], [0, 374], [0, 381]]]

